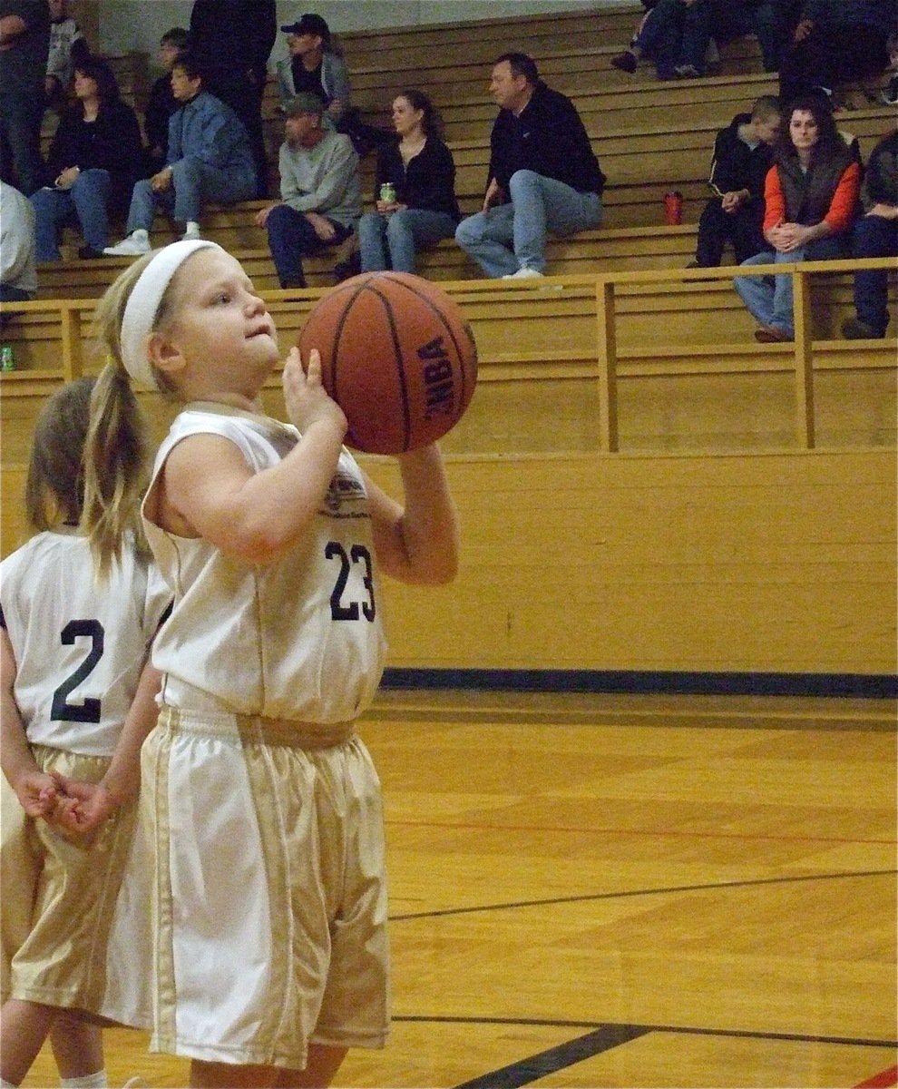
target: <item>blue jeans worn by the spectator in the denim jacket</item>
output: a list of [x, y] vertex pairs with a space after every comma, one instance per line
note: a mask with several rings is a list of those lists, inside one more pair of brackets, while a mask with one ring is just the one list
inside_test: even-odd
[[255, 171], [251, 176], [249, 173], [234, 174], [200, 159], [180, 159], [172, 164], [172, 180], [167, 189], [156, 192], [148, 178], [136, 183], [127, 213], [127, 233], [139, 228], [149, 231], [157, 208], [172, 212], [179, 222], [198, 223], [200, 208], [207, 200], [236, 204], [237, 200], [253, 200], [255, 196]]

